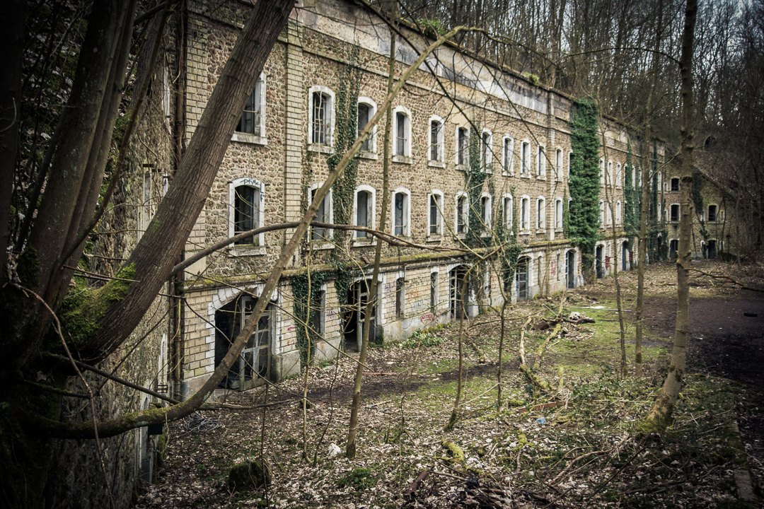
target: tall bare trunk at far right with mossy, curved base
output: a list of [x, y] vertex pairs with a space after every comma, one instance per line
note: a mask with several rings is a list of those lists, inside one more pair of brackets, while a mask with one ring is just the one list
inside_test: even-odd
[[689, 340], [690, 287], [690, 235], [692, 231], [692, 143], [694, 137], [694, 95], [692, 56], [694, 52], [695, 16], [697, 0], [688, 0], [685, 8], [685, 30], [681, 39], [681, 217], [679, 221], [679, 250], [676, 264], [676, 326], [669, 373], [663, 382], [656, 403], [650, 411], [646, 426], [652, 430], [665, 430], [672, 418], [674, 404], [681, 390], [687, 346]]

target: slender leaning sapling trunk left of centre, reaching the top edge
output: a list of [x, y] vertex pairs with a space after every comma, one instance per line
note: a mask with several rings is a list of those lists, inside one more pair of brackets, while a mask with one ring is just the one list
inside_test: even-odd
[[[397, 12], [397, 3], [391, 2], [391, 14], [393, 18]], [[393, 20], [396, 22], [397, 20]], [[393, 90], [393, 76], [395, 75], [395, 31], [390, 31], [390, 58], [387, 60], [387, 93]], [[380, 215], [380, 229], [387, 227], [387, 205], [390, 198], [387, 196], [390, 188], [390, 136], [393, 129], [393, 108], [392, 103], [387, 105], [385, 110], [384, 124], [384, 144], [382, 159], [382, 214]], [[366, 314], [364, 314], [364, 330], [361, 336], [361, 352], [358, 353], [358, 366], [355, 369], [355, 378], [353, 381], [353, 400], [350, 407], [350, 422], [348, 424], [348, 443], [345, 446], [345, 456], [348, 459], [355, 458], [356, 438], [358, 437], [358, 413], [361, 411], [361, 383], [364, 379], [364, 366], [366, 366], [366, 356], [369, 348], [369, 327], [371, 325], [371, 311], [377, 305], [377, 279], [380, 273], [380, 260], [382, 258], [382, 242], [377, 240], [374, 247], [374, 271], [371, 276], [371, 288], [368, 288], [368, 301], [366, 303]]]

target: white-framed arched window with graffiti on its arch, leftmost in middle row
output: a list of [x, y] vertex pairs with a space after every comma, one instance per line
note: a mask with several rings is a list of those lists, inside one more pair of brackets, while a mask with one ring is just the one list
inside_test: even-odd
[[[265, 185], [255, 179], [236, 179], [228, 183], [228, 236], [242, 234], [263, 226]], [[264, 234], [244, 237], [236, 245], [261, 246]]]

